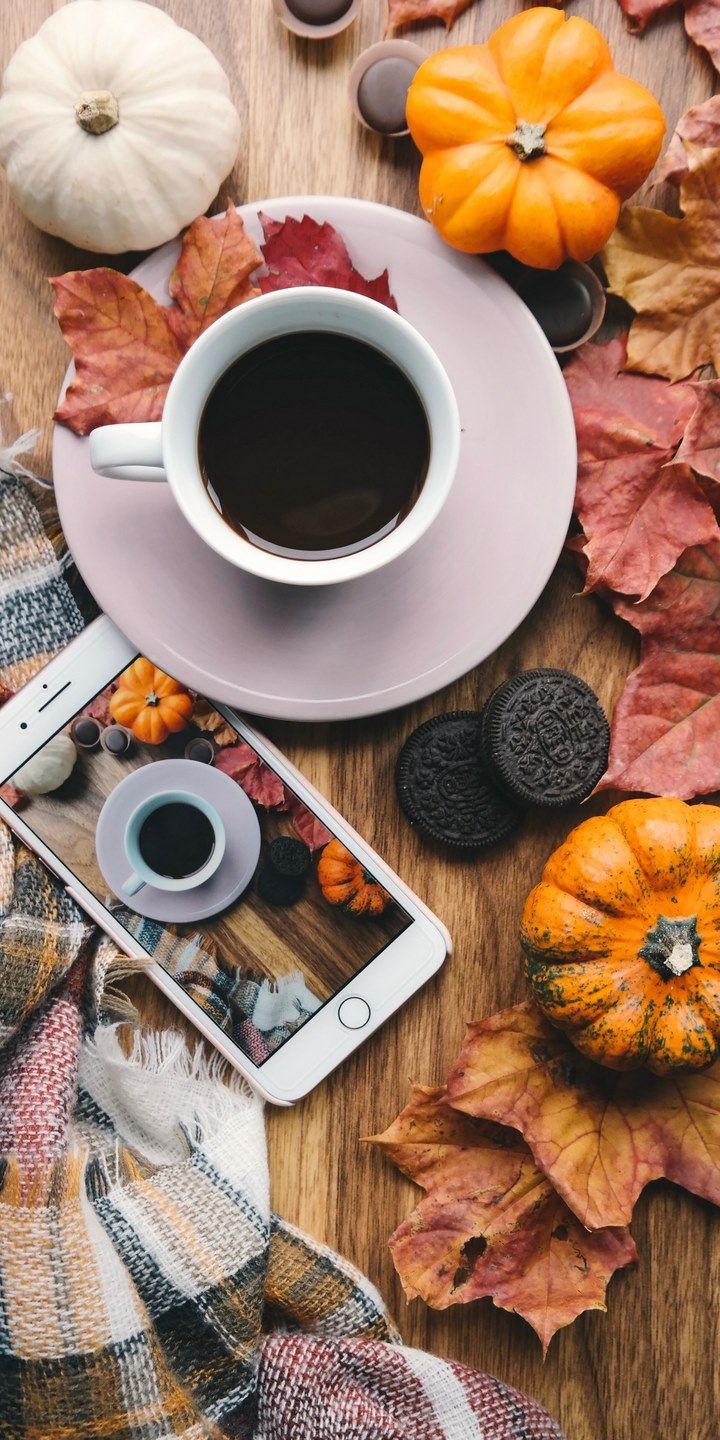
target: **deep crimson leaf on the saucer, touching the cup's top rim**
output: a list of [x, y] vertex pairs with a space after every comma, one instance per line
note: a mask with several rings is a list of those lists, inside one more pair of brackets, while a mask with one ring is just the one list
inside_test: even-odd
[[331, 225], [318, 225], [310, 215], [301, 220], [271, 220], [261, 215], [265, 243], [262, 255], [266, 274], [258, 276], [264, 295], [295, 285], [328, 285], [331, 289], [351, 289], [369, 295], [390, 310], [397, 310], [390, 294], [387, 271], [374, 279], [364, 279], [356, 271], [343, 236]]

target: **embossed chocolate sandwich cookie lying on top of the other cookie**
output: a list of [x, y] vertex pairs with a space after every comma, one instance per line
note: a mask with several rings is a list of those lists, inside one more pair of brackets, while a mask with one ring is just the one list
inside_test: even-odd
[[481, 756], [518, 804], [585, 801], [608, 768], [611, 730], [595, 691], [567, 670], [526, 670], [492, 691]]

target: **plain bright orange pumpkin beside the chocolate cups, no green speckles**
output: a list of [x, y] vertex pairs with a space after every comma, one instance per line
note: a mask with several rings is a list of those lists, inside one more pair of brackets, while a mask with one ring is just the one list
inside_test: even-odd
[[487, 45], [438, 50], [408, 95], [420, 203], [448, 245], [556, 269], [586, 261], [660, 154], [665, 121], [579, 16], [523, 10]]

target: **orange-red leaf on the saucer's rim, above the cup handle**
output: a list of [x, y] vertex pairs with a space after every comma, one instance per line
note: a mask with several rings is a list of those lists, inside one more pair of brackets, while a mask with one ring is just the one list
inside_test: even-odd
[[75, 359], [55, 419], [76, 435], [121, 420], [158, 420], [184, 351], [204, 325], [258, 291], [249, 272], [262, 262], [232, 204], [215, 220], [193, 220], [171, 279], [174, 305], [99, 266], [56, 275], [55, 314]]

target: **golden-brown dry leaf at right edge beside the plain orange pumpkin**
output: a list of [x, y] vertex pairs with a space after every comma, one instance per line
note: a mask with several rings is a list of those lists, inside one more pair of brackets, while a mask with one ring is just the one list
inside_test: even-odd
[[685, 153], [683, 219], [628, 206], [603, 252], [611, 289], [636, 312], [628, 369], [670, 380], [720, 369], [720, 150]]

